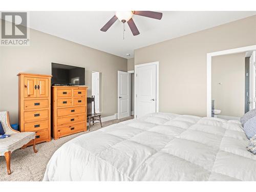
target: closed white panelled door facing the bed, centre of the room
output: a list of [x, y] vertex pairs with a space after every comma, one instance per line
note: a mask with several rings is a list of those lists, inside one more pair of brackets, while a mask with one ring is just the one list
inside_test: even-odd
[[157, 65], [136, 67], [136, 117], [157, 112]]

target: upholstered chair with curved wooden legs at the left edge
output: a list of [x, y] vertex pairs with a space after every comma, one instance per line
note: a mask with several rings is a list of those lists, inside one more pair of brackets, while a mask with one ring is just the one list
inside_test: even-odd
[[11, 153], [29, 141], [33, 140], [33, 150], [35, 149], [35, 132], [18, 132], [12, 129], [9, 122], [9, 112], [0, 112], [0, 121], [3, 125], [5, 134], [11, 137], [0, 139], [0, 156], [5, 156], [8, 175], [11, 174]]

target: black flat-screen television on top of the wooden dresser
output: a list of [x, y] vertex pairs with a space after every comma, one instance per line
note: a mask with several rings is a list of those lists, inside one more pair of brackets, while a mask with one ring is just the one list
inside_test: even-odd
[[83, 86], [86, 69], [52, 62], [52, 84]]

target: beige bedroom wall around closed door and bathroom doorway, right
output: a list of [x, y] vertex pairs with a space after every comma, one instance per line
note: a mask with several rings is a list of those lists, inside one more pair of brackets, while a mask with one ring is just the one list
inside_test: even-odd
[[159, 61], [159, 111], [206, 116], [206, 54], [256, 44], [256, 16], [135, 50]]

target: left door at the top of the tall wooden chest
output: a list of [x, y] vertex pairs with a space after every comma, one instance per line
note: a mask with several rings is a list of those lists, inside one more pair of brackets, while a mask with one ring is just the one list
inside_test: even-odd
[[36, 97], [37, 92], [37, 78], [25, 77], [24, 78], [24, 97]]

